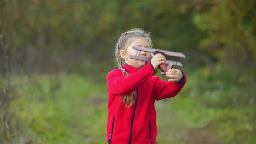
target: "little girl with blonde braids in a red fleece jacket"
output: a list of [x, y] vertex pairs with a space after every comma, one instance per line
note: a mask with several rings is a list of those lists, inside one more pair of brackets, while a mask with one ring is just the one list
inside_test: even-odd
[[[170, 69], [168, 81], [154, 76], [158, 65], [166, 64], [160, 53], [150, 62], [130, 59], [129, 55], [150, 57], [132, 46], [152, 47], [149, 33], [131, 29], [123, 33], [115, 47], [119, 69], [107, 75], [108, 122], [106, 141], [110, 144], [156, 144], [157, 126], [155, 100], [176, 96], [185, 85], [186, 75]], [[124, 65], [123, 65], [124, 64]]]

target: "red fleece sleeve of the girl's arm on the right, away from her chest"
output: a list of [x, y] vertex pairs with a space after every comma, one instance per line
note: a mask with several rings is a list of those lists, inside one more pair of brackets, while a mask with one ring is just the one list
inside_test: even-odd
[[154, 94], [156, 95], [156, 100], [161, 100], [164, 98], [171, 98], [176, 96], [180, 91], [181, 88], [185, 85], [187, 82], [187, 77], [184, 75], [184, 82], [183, 83], [177, 83], [177, 82], [168, 82], [157, 78], [154, 86]]

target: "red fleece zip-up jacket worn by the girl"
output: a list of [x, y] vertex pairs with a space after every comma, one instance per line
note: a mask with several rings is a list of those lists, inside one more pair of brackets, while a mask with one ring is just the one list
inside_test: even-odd
[[[114, 69], [107, 75], [108, 122], [106, 141], [111, 144], [156, 144], [157, 126], [155, 100], [176, 96], [184, 82], [168, 82], [155, 74], [150, 62], [136, 69], [125, 64], [129, 73], [124, 76], [121, 69]], [[130, 108], [121, 104], [121, 96], [136, 91], [135, 103]]]

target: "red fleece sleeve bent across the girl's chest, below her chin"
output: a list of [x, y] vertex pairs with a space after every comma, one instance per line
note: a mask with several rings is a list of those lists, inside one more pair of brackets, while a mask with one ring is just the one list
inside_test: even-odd
[[107, 75], [108, 93], [128, 95], [155, 74], [150, 62], [137, 72], [124, 76], [121, 69], [115, 69]]

